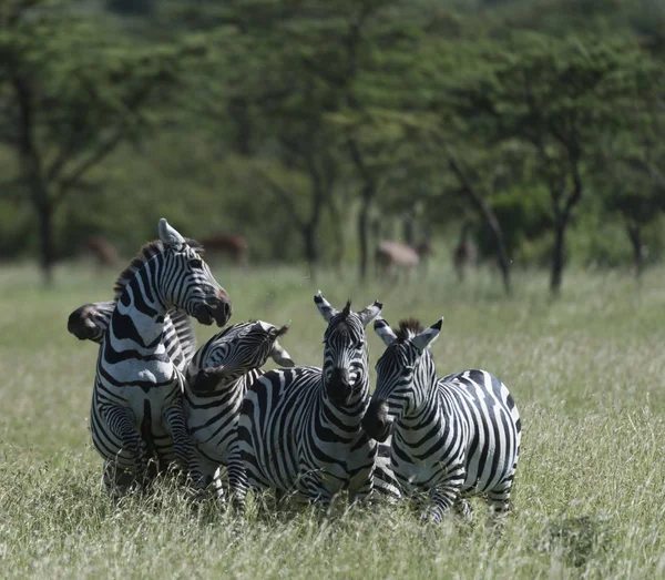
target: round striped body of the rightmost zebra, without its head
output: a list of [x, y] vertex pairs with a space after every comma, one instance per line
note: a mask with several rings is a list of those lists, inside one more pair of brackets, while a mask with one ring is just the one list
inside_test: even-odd
[[466, 497], [512, 482], [520, 417], [505, 385], [472, 369], [440, 378], [433, 395], [395, 425], [391, 465], [400, 486], [412, 492], [447, 482]]

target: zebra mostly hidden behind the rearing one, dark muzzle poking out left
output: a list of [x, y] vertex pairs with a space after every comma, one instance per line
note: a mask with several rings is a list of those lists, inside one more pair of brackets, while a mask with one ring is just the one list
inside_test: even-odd
[[[66, 328], [80, 340], [101, 344], [114, 309], [115, 301], [84, 304], [70, 314]], [[162, 344], [166, 356], [184, 373], [196, 350], [196, 336], [187, 313], [174, 308], [166, 312]]]

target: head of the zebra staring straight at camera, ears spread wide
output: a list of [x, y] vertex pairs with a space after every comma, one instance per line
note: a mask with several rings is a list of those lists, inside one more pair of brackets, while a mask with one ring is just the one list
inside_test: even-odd
[[349, 405], [365, 397], [365, 391], [369, 393], [365, 327], [381, 313], [383, 305], [375, 302], [355, 313], [348, 301], [339, 312], [330, 306], [320, 291], [314, 302], [328, 323], [324, 335], [323, 369], [326, 394], [335, 405]]

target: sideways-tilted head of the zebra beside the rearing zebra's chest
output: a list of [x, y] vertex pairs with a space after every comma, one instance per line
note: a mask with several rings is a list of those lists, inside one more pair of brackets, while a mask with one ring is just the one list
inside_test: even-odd
[[287, 326], [277, 327], [263, 320], [229, 326], [202, 347], [206, 349], [209, 345], [203, 360], [195, 357], [190, 364], [187, 374], [195, 374], [190, 387], [194, 391], [214, 390], [222, 381], [229, 383], [260, 368], [268, 357], [279, 366], [295, 366], [278, 340], [287, 330]]

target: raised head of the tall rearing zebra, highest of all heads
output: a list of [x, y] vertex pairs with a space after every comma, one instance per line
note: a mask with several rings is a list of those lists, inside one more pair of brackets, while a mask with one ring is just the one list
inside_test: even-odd
[[219, 286], [207, 264], [203, 248], [185, 240], [163, 217], [160, 240], [164, 245], [157, 273], [157, 292], [167, 307], [185, 311], [201, 324], [224, 326], [231, 318], [231, 298]]

